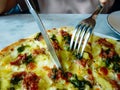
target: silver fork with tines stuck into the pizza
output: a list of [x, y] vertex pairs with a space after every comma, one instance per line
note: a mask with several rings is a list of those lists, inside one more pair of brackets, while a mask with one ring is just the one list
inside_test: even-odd
[[103, 6], [98, 5], [93, 14], [82, 20], [75, 28], [71, 41], [70, 41], [70, 50], [77, 51], [77, 54], [80, 54], [80, 57], [83, 56], [85, 46], [89, 40], [90, 35], [96, 25], [96, 17], [102, 11]]

